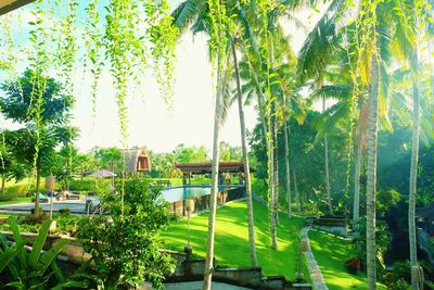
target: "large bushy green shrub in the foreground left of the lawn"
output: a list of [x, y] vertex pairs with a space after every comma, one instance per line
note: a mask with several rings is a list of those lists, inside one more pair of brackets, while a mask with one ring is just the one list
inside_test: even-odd
[[163, 275], [174, 269], [171, 257], [158, 251], [159, 231], [169, 222], [168, 204], [161, 191], [141, 178], [125, 180], [120, 194], [103, 197], [113, 222], [92, 216], [80, 223], [78, 239], [92, 255], [98, 283], [105, 288], [138, 286], [148, 280], [161, 287]]

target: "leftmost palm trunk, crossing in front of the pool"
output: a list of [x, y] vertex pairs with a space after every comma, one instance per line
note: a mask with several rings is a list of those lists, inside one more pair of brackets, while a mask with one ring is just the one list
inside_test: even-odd
[[212, 276], [214, 272], [214, 236], [216, 223], [216, 209], [217, 209], [217, 192], [218, 192], [218, 163], [220, 159], [220, 119], [222, 112], [222, 72], [217, 76], [217, 93], [216, 93], [216, 108], [214, 116], [214, 137], [213, 137], [213, 164], [212, 164], [212, 188], [210, 188], [210, 206], [208, 215], [208, 244], [206, 251], [205, 273], [203, 290], [209, 290], [212, 283]]

